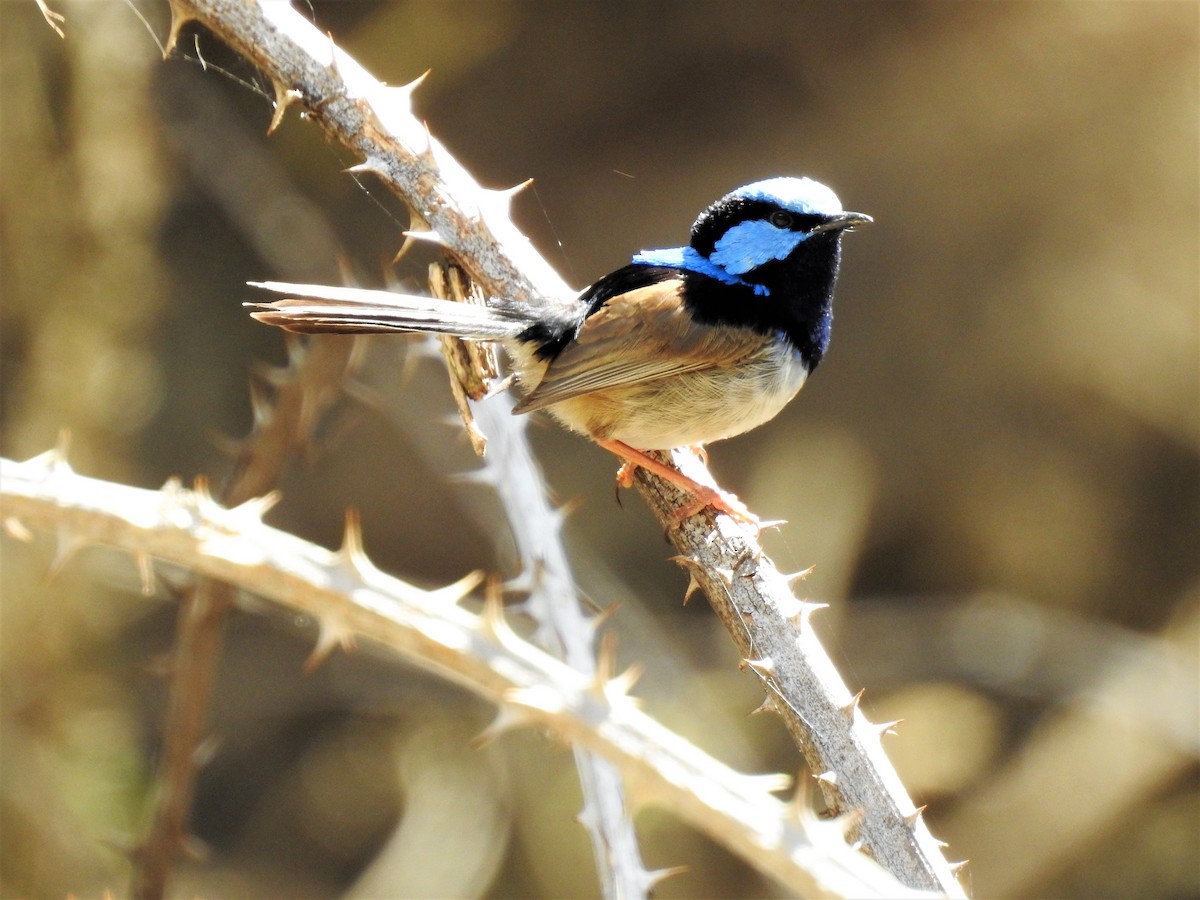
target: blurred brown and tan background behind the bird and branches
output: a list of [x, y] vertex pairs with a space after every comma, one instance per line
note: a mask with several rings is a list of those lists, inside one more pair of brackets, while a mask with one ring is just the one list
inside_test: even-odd
[[[228, 474], [248, 373], [281, 336], [245, 282], [419, 288], [403, 205], [166, 5], [0, 4], [2, 452], [72, 434], [80, 472]], [[770, 425], [712, 448], [768, 518], [889, 751], [980, 896], [1198, 896], [1200, 6], [1194, 2], [314, 2], [574, 284], [685, 239], [737, 185], [808, 174], [876, 224], [846, 240], [834, 340]], [[140, 17], [144, 17], [142, 20]], [[206, 65], [200, 65], [200, 59]], [[371, 403], [330, 414], [271, 521], [440, 584], [514, 575], [445, 378], [373, 341]], [[796, 770], [752, 678], [616, 462], [534, 442], [648, 709], [732, 764]], [[174, 602], [89, 550], [5, 539], [0, 892], [124, 893], [144, 827]], [[239, 612], [178, 895], [329, 896], [401, 823], [449, 871], [397, 894], [581, 896], [595, 880], [570, 754], [486, 754], [490, 710], [370, 650], [306, 676], [312, 623]], [[398, 761], [398, 762], [397, 762]], [[486, 763], [486, 764], [485, 764]], [[433, 774], [431, 774], [433, 773]], [[437, 778], [434, 778], [437, 775]], [[778, 888], [670, 811], [638, 816], [660, 896]], [[486, 852], [485, 850], [486, 848]], [[463, 863], [484, 859], [466, 878]]]

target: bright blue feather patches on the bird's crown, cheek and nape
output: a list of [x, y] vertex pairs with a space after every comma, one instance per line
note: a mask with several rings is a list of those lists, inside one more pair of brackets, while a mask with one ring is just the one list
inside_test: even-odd
[[[761, 209], [760, 209], [761, 208]], [[703, 241], [704, 226], [714, 217], [738, 209], [758, 209], [761, 215], [736, 221], [712, 247]], [[838, 196], [810, 178], [772, 178], [732, 191], [700, 214], [686, 247], [643, 250], [634, 257], [638, 265], [664, 265], [707, 275], [725, 284], [750, 287], [761, 296], [770, 292], [742, 276], [775, 259], [786, 259], [810, 235], [793, 217], [811, 221], [844, 212]], [[701, 247], [696, 245], [701, 244]]]

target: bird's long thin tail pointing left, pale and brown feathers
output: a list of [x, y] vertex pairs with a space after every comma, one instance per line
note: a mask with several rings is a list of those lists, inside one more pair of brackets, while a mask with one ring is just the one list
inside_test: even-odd
[[251, 284], [287, 295], [274, 302], [246, 304], [253, 310], [251, 316], [301, 334], [425, 331], [474, 341], [499, 341], [516, 337], [535, 322], [532, 311], [520, 307], [476, 306], [390, 290], [324, 284], [278, 281]]

